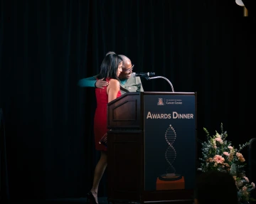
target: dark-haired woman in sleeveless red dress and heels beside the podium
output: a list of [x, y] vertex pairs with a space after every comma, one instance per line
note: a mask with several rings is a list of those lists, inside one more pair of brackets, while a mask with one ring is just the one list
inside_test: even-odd
[[90, 203], [96, 204], [97, 202], [97, 190], [99, 187], [100, 179], [107, 167], [107, 147], [100, 144], [105, 133], [107, 133], [107, 103], [115, 100], [121, 96], [119, 74], [122, 72], [122, 58], [115, 53], [110, 53], [105, 56], [100, 66], [100, 75], [97, 80], [104, 78], [108, 82], [107, 87], [96, 88], [96, 100], [97, 108], [95, 110], [94, 118], [94, 134], [95, 134], [95, 148], [100, 151], [100, 160], [95, 167], [95, 174], [93, 178], [92, 188], [87, 193], [87, 198]]

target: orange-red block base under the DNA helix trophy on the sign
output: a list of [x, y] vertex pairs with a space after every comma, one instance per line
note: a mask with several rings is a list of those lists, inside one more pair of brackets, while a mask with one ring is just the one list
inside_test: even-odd
[[185, 189], [185, 181], [183, 176], [181, 179], [176, 181], [161, 181], [159, 178], [156, 179], [156, 190], [176, 189]]

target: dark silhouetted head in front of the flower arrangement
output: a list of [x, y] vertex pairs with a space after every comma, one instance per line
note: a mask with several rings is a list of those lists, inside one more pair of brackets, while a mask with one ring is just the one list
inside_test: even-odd
[[199, 204], [238, 204], [238, 189], [230, 173], [208, 171], [198, 176], [195, 198]]

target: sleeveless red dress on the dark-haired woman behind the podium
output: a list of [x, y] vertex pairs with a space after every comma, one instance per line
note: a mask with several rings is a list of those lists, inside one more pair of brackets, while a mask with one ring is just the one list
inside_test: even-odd
[[[110, 80], [106, 80], [109, 82]], [[102, 136], [108, 131], [107, 129], [107, 103], [108, 103], [108, 95], [107, 95], [107, 87], [104, 89], [95, 88], [95, 95], [97, 100], [97, 107], [95, 110], [94, 117], [94, 134], [95, 134], [95, 148], [99, 151], [107, 151], [107, 147], [103, 144], [99, 144]], [[121, 92], [117, 92], [117, 97], [121, 96]]]

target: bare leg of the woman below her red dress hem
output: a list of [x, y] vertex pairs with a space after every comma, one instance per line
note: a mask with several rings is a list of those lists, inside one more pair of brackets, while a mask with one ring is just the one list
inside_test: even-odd
[[100, 160], [98, 161], [96, 167], [95, 167], [95, 174], [93, 178], [93, 184], [92, 184], [92, 195], [95, 197], [96, 203], [97, 202], [97, 191], [100, 184], [100, 179], [103, 176], [103, 173], [105, 172], [105, 169], [107, 167], [107, 152], [101, 151], [100, 154]]

